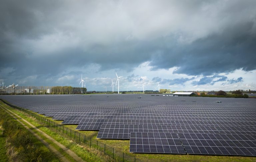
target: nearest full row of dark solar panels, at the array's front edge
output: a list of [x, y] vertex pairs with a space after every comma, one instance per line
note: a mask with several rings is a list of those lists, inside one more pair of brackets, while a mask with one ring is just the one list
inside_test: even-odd
[[131, 132], [130, 152], [256, 156], [255, 136]]

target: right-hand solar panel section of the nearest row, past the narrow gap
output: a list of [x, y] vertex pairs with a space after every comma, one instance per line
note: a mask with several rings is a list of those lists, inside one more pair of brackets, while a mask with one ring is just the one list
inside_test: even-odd
[[256, 136], [178, 133], [188, 154], [256, 156]]

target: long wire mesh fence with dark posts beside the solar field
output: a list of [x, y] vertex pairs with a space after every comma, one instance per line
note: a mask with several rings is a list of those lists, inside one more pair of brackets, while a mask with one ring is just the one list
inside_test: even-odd
[[7, 104], [8, 106], [18, 109], [18, 110], [26, 113], [28, 116], [35, 118], [41, 124], [43, 124], [45, 127], [48, 127], [52, 131], [58, 132], [62, 136], [73, 140], [75, 143], [80, 144], [80, 145], [86, 145], [92, 149], [97, 149], [97, 150], [101, 151], [104, 155], [112, 157], [113, 161], [118, 161], [118, 162], [128, 162], [128, 161], [129, 162], [133, 162], [133, 161], [140, 162], [141, 161], [140, 159], [137, 159], [134, 156], [126, 154], [126, 153], [120, 151], [119, 149], [115, 149], [114, 147], [111, 147], [97, 139], [92, 139], [91, 136], [86, 136], [85, 134], [83, 134], [81, 132], [70, 129], [70, 128], [66, 127], [64, 124], [59, 124], [55, 121], [47, 119], [46, 117], [35, 114], [29, 110], [9, 104], [8, 102], [6, 102], [4, 100], [2, 100], [2, 101], [5, 104]]

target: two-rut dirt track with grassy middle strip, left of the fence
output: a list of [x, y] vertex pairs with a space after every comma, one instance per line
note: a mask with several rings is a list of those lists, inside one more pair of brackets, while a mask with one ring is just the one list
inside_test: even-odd
[[[21, 118], [20, 116], [18, 116], [17, 114], [15, 114], [14, 112], [4, 108], [3, 106], [0, 106], [4, 111], [6, 111], [8, 114], [10, 114], [13, 118], [15, 118], [18, 122], [20, 122], [24, 127], [26, 127], [33, 135], [35, 135], [47, 148], [49, 148], [51, 151], [53, 151], [54, 154], [57, 155], [58, 158], [60, 158], [63, 162], [69, 162], [68, 159], [66, 159], [66, 157], [64, 157], [58, 150], [56, 150], [54, 147], [52, 147], [49, 143], [47, 143], [43, 138], [41, 138], [39, 135], [37, 135], [34, 131], [32, 131], [29, 127], [27, 127], [23, 122], [21, 122], [19, 119], [21, 119], [22, 121], [26, 122], [29, 126], [31, 126], [33, 129], [35, 129], [37, 132], [39, 132], [40, 134], [44, 135], [46, 138], [48, 138], [49, 140], [51, 140], [53, 143], [55, 143], [57, 146], [59, 146], [61, 149], [63, 149], [67, 154], [69, 154], [71, 157], [73, 157], [73, 159], [75, 161], [79, 161], [79, 162], [85, 162], [83, 159], [81, 159], [80, 157], [78, 157], [73, 151], [71, 151], [70, 149], [68, 149], [67, 147], [65, 147], [64, 145], [60, 144], [59, 142], [57, 142], [55, 139], [53, 139], [52, 137], [50, 137], [49, 135], [47, 135], [46, 133], [44, 133], [43, 131], [41, 131], [40, 129], [38, 129], [36, 126], [34, 126], [33, 124], [31, 124], [30, 122], [26, 121], [25, 119]], [[8, 112], [9, 111], [9, 112]], [[12, 114], [13, 115], [12, 115]], [[19, 119], [17, 119], [19, 118]]]

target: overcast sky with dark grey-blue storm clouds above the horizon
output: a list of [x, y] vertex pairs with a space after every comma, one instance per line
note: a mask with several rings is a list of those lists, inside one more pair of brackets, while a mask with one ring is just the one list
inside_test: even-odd
[[[256, 90], [255, 0], [1, 0], [0, 82]], [[114, 88], [117, 90], [117, 88]]]

